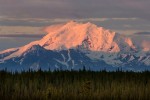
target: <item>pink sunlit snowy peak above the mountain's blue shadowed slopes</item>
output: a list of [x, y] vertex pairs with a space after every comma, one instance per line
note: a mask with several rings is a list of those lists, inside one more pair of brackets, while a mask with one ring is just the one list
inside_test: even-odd
[[[39, 45], [48, 50], [62, 50], [72, 48], [86, 48], [91, 51], [119, 52], [119, 41], [115, 41], [116, 34], [110, 30], [98, 27], [90, 22], [78, 23], [69, 21], [55, 29], [47, 29], [48, 34], [39, 41]], [[126, 38], [126, 37], [124, 37]], [[125, 39], [124, 39], [125, 40]], [[132, 42], [132, 41], [130, 41]], [[126, 46], [131, 46], [132, 43]]]

